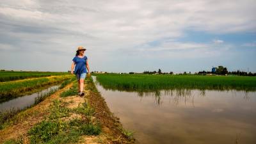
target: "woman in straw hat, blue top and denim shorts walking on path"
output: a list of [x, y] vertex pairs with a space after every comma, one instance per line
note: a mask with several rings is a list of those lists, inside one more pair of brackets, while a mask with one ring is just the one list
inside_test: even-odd
[[[88, 60], [87, 57], [84, 56], [84, 51], [86, 51], [84, 47], [77, 47], [76, 56], [73, 58], [73, 63], [71, 65], [71, 74], [76, 74], [79, 88], [78, 95], [80, 96], [84, 95], [84, 79], [86, 77], [86, 73], [90, 74]], [[73, 71], [74, 67], [75, 71]], [[88, 72], [86, 71], [86, 68]]]

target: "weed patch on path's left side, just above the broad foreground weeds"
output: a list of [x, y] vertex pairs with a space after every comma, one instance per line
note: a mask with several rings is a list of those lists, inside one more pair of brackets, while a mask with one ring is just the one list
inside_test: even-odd
[[62, 118], [69, 115], [70, 109], [65, 107], [61, 100], [54, 100], [51, 108], [50, 119]]

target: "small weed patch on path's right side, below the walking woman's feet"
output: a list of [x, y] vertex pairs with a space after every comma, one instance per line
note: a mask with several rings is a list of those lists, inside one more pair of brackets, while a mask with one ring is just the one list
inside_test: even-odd
[[79, 104], [77, 108], [74, 108], [73, 111], [75, 113], [79, 113], [85, 116], [92, 116], [94, 114], [94, 109], [86, 102], [83, 104]]

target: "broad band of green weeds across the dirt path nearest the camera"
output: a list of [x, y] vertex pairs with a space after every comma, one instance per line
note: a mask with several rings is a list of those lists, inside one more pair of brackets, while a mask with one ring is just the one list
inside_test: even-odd
[[61, 120], [42, 121], [28, 131], [30, 143], [76, 143], [82, 135], [98, 135], [101, 132], [99, 124], [86, 123], [82, 119], [70, 122]]

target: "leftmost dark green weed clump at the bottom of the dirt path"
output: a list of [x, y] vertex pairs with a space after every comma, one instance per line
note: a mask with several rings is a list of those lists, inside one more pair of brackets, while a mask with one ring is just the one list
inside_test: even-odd
[[51, 140], [53, 136], [57, 136], [60, 132], [65, 130], [67, 124], [59, 121], [45, 121], [43, 120], [39, 124], [32, 127], [28, 134], [30, 135], [30, 142], [42, 143]]

